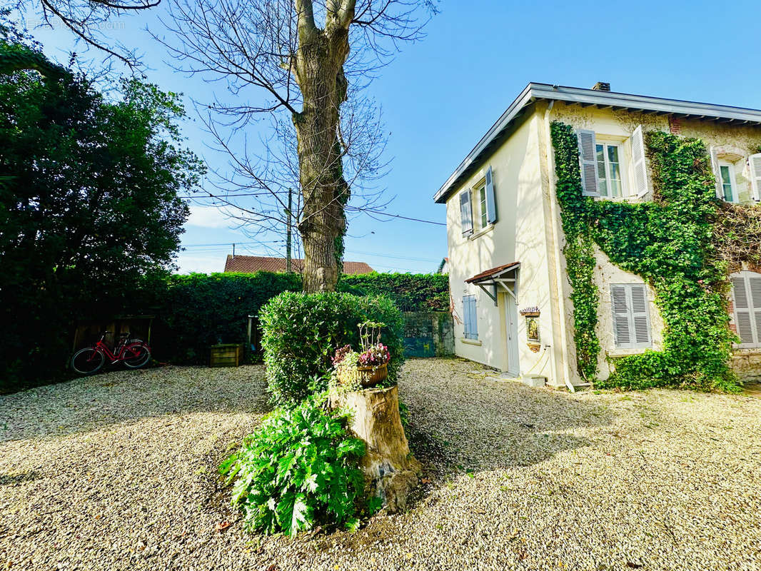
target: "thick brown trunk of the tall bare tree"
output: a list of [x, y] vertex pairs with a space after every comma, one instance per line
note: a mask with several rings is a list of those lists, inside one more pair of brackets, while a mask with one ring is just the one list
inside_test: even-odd
[[336, 241], [345, 231], [339, 107], [346, 99], [343, 64], [349, 32], [326, 28], [298, 50], [295, 70], [304, 106], [293, 116], [304, 210], [298, 230], [304, 244], [304, 292], [333, 291], [338, 281]]

